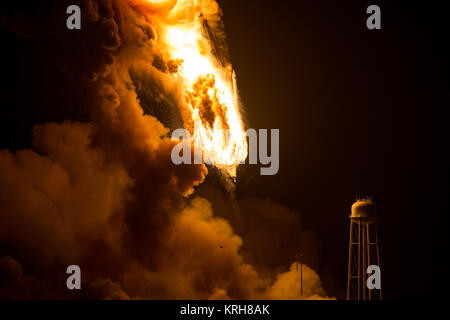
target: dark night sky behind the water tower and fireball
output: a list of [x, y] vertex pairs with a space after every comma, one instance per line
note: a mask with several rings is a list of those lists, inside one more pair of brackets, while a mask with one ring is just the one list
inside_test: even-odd
[[[443, 9], [376, 1], [382, 30], [370, 31], [368, 1], [219, 3], [247, 125], [280, 129], [278, 175], [242, 168], [237, 196], [269, 197], [300, 211], [320, 239], [324, 287], [340, 298], [350, 206], [356, 196], [373, 196], [385, 298], [436, 297], [439, 219], [429, 217], [440, 209], [430, 203], [446, 179], [435, 174], [433, 127], [433, 113], [443, 107], [437, 93], [447, 90], [440, 82], [439, 54], [448, 36], [434, 16]], [[40, 67], [53, 57], [45, 39], [33, 44], [43, 55], [29, 60], [28, 48], [20, 47], [25, 42], [8, 37], [2, 35], [10, 50], [2, 53], [8, 85], [2, 92], [0, 149], [29, 147], [34, 124], [67, 115], [84, 120], [77, 109], [80, 94], [59, 94], [56, 87], [53, 99], [65, 108], [61, 115], [46, 112], [45, 97], [35, 88], [43, 73], [42, 85], [53, 83], [52, 70]]]

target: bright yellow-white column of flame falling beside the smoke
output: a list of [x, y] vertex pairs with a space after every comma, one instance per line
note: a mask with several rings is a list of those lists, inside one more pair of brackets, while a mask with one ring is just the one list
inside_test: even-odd
[[[147, 1], [170, 4], [173, 1]], [[247, 157], [247, 140], [239, 113], [235, 74], [214, 56], [203, 26], [201, 9], [217, 6], [210, 1], [178, 1], [161, 23], [158, 45], [176, 67], [173, 77], [181, 80], [192, 124], [194, 146], [205, 160], [236, 177], [236, 168]], [[172, 21], [176, 21], [173, 23]]]

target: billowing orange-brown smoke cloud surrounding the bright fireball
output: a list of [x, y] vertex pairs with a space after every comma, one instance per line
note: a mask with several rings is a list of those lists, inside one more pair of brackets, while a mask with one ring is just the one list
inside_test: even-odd
[[[203, 8], [226, 59], [217, 4], [179, 1], [186, 15], [170, 19]], [[61, 86], [81, 94], [87, 119], [67, 114], [37, 125], [32, 148], [0, 151], [0, 298], [326, 297], [307, 266], [300, 296], [295, 251], [309, 250], [313, 263], [317, 250], [297, 212], [213, 188], [194, 194], [207, 168], [172, 164], [169, 128], [184, 123], [185, 97], [171, 77], [177, 62], [158, 46], [158, 23], [177, 1], [151, 2], [86, 0], [78, 33], [59, 16], [39, 29], [58, 52], [48, 66], [66, 79]], [[65, 12], [67, 5], [43, 6]], [[14, 14], [1, 21], [37, 37]], [[82, 270], [76, 292], [65, 287], [72, 264]]]

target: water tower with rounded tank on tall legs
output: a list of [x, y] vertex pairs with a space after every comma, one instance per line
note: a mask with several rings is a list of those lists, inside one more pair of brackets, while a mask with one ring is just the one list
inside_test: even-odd
[[350, 215], [347, 300], [381, 300], [381, 288], [367, 286], [372, 265], [380, 266], [376, 206], [370, 198], [357, 199]]

